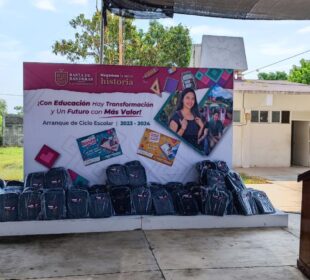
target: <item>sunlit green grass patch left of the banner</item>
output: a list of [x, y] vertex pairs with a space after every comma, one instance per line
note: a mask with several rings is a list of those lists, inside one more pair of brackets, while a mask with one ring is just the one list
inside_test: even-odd
[[23, 158], [23, 147], [0, 147], [0, 178], [23, 181]]

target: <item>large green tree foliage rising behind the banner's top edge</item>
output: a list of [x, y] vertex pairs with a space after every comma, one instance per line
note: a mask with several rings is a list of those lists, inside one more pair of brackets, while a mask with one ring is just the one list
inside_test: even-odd
[[[137, 30], [132, 19], [124, 19], [124, 64], [188, 66], [190, 61], [191, 38], [189, 29], [179, 24], [164, 27], [152, 21], [144, 32]], [[62, 39], [52, 46], [53, 53], [66, 56], [71, 62], [92, 58], [99, 62], [100, 53], [100, 12], [91, 19], [80, 14], [70, 21], [75, 30], [74, 39]], [[104, 63], [118, 64], [119, 61], [119, 18], [108, 14], [108, 27], [104, 36]]]

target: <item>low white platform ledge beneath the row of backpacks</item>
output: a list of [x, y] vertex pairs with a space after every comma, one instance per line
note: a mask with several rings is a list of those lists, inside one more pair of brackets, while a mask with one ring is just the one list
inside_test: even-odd
[[287, 227], [288, 214], [239, 216], [114, 216], [103, 219], [66, 219], [0, 223], [0, 236], [113, 232], [157, 229]]

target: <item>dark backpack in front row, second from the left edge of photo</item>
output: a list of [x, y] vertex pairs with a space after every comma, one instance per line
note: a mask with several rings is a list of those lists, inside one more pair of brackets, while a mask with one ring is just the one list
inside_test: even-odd
[[38, 220], [41, 212], [42, 192], [35, 188], [26, 188], [19, 196], [18, 214], [19, 220]]

